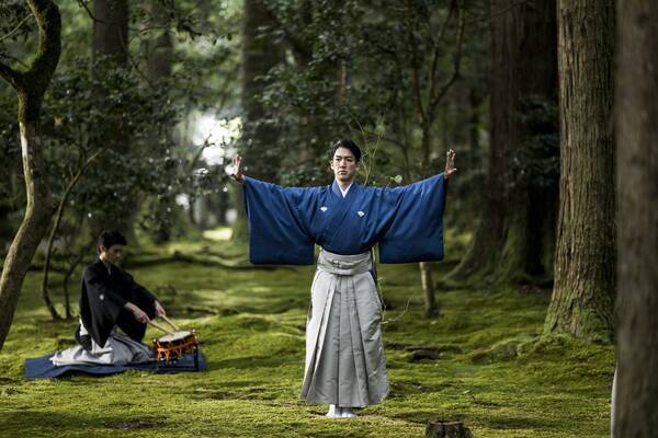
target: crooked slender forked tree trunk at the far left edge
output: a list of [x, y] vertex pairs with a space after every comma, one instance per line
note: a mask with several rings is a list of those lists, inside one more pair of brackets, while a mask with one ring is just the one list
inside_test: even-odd
[[23, 222], [9, 249], [0, 277], [0, 349], [9, 334], [23, 279], [53, 216], [50, 192], [38, 135], [38, 119], [44, 93], [61, 51], [61, 20], [57, 5], [48, 0], [27, 2], [38, 24], [38, 50], [25, 71], [0, 64], [0, 77], [19, 97], [19, 126], [23, 155], [23, 176], [27, 206]]

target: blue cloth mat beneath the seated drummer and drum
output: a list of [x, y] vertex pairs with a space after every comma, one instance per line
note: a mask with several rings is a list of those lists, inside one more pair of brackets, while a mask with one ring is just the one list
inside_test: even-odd
[[[25, 378], [26, 379], [52, 379], [56, 377], [63, 377], [71, 373], [84, 373], [92, 376], [109, 376], [117, 372], [124, 372], [128, 370], [141, 370], [152, 371], [160, 374], [173, 374], [177, 372], [190, 372], [196, 371], [194, 369], [194, 355], [185, 355], [181, 357], [175, 364], [169, 364], [168, 366], [161, 365], [158, 369], [156, 362], [146, 364], [133, 364], [122, 367], [111, 365], [67, 365], [64, 367], [56, 367], [50, 361], [53, 354], [37, 357], [34, 359], [25, 360]], [[198, 353], [198, 370], [205, 371], [207, 365], [203, 353]]]

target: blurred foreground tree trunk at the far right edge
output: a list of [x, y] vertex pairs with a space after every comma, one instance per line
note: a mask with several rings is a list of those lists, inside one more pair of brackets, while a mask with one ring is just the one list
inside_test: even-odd
[[620, 3], [615, 437], [658, 430], [658, 3]]

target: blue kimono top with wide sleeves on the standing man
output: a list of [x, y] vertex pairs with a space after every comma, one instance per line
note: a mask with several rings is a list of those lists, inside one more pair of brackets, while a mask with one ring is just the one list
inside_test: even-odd
[[253, 264], [311, 265], [314, 245], [342, 255], [378, 243], [382, 263], [443, 258], [443, 173], [401, 187], [352, 184], [283, 188], [247, 177], [249, 257]]

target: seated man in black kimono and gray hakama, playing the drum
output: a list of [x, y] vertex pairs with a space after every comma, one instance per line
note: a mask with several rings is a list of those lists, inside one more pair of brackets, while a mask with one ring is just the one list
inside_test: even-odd
[[126, 365], [154, 359], [140, 341], [147, 322], [166, 312], [156, 297], [115, 265], [126, 243], [117, 231], [104, 231], [99, 237], [99, 260], [82, 275], [80, 325], [76, 332], [80, 345], [57, 351], [50, 358], [56, 366]]

